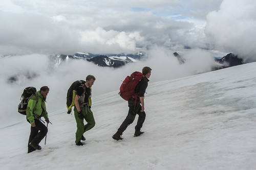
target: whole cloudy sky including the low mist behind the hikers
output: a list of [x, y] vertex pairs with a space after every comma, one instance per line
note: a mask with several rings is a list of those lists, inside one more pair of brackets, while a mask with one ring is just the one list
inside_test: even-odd
[[[0, 108], [15, 113], [21, 91], [43, 85], [51, 89], [49, 110], [66, 107], [69, 86], [89, 74], [96, 77], [96, 96], [118, 90], [127, 75], [144, 66], [153, 69], [154, 83], [210, 71], [216, 64], [212, 54], [235, 53], [256, 61], [255, 8], [254, 0], [0, 1], [0, 55], [17, 55], [0, 57], [5, 89]], [[121, 69], [81, 60], [49, 67], [50, 54], [138, 51], [146, 51], [148, 59]], [[185, 64], [174, 52], [182, 54]], [[12, 77], [17, 81], [10, 84]], [[13, 99], [17, 102], [10, 104]]]

